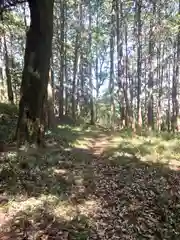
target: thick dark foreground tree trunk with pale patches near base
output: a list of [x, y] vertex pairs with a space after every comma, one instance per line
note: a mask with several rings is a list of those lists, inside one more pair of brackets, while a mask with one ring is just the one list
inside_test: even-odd
[[43, 143], [45, 102], [53, 34], [53, 0], [28, 1], [31, 24], [26, 37], [24, 69], [16, 136], [21, 140]]

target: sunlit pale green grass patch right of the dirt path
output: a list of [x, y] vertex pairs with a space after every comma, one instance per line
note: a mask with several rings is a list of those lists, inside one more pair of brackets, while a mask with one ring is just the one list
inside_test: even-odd
[[[101, 146], [100, 146], [101, 147]], [[143, 162], [154, 162], [168, 165], [170, 168], [179, 168], [179, 138], [164, 140], [162, 136], [144, 137], [134, 135], [133, 137], [116, 136], [108, 139], [104, 155], [110, 160], [118, 156], [131, 156], [139, 158]]]

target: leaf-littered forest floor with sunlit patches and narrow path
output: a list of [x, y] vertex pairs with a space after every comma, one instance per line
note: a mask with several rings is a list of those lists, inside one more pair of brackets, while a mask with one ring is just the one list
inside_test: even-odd
[[180, 142], [59, 127], [0, 156], [1, 240], [180, 239]]

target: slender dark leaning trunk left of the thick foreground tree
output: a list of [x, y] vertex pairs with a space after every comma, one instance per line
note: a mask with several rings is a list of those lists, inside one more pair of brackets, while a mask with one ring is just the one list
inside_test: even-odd
[[10, 59], [7, 49], [6, 36], [4, 35], [4, 51], [5, 51], [5, 69], [6, 69], [6, 82], [7, 82], [7, 95], [9, 103], [14, 103], [14, 96], [12, 90], [11, 72], [10, 72]]

